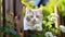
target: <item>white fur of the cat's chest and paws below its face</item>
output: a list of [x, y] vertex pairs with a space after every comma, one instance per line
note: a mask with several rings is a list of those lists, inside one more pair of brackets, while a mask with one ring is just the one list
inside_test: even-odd
[[30, 25], [28, 25], [26, 18], [24, 18], [24, 30], [28, 30], [28, 29], [30, 29], [30, 30], [34, 30], [34, 29], [42, 30], [42, 23], [30, 26]]

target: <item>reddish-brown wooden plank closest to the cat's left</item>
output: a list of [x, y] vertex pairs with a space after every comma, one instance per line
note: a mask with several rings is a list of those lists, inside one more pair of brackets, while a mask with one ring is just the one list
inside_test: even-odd
[[15, 13], [17, 16], [17, 33], [21, 37], [24, 37], [24, 30], [23, 30], [23, 12], [22, 12], [22, 2], [21, 0], [15, 0]]

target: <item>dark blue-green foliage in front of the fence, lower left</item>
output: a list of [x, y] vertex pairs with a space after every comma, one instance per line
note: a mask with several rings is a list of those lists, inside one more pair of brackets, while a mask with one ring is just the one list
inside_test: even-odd
[[10, 26], [9, 25], [10, 23], [5, 21], [4, 26], [0, 26], [0, 33], [3, 33], [4, 35], [10, 35], [11, 37], [20, 37], [16, 30], [14, 30], [14, 24], [11, 24]]

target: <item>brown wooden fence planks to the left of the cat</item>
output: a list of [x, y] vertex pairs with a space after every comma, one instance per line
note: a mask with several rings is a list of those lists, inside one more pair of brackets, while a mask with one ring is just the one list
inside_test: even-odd
[[[11, 13], [12, 17], [9, 17], [9, 14]], [[9, 20], [11, 23], [14, 23], [16, 21], [16, 32], [21, 37], [24, 37], [23, 12], [21, 0], [3, 0], [3, 27], [5, 24], [5, 18]], [[5, 37], [10, 37], [10, 35], [6, 35]]]

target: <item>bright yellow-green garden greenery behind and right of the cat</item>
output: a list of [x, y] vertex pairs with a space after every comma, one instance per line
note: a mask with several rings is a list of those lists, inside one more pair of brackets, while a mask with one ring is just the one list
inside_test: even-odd
[[[23, 3], [23, 12], [24, 14], [26, 13], [26, 7], [29, 7], [31, 9], [36, 9], [37, 7], [34, 5], [34, 1], [26, 1], [26, 0], [22, 0]], [[54, 13], [54, 7], [58, 8], [58, 12], [62, 14], [62, 16], [65, 16], [65, 0], [50, 0], [46, 7], [40, 4], [40, 8], [43, 9], [43, 21], [42, 21], [42, 25], [43, 25], [43, 30], [41, 33], [34, 33], [30, 34], [31, 37], [44, 37], [44, 33], [46, 32], [52, 32], [53, 35], [61, 35], [61, 30], [60, 28], [55, 28], [54, 26], [54, 21], [50, 21], [51, 16], [50, 14]], [[48, 17], [49, 16], [49, 17]], [[53, 16], [54, 17], [54, 16]]]

